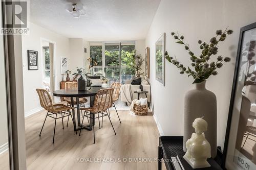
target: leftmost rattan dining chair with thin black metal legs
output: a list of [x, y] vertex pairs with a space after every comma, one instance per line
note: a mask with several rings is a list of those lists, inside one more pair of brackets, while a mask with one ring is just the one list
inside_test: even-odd
[[[44, 109], [47, 110], [46, 118], [47, 118], [47, 116], [49, 116], [49, 117], [52, 117], [52, 118], [55, 119], [53, 140], [52, 140], [52, 142], [54, 143], [56, 120], [58, 118], [61, 118], [61, 120], [62, 120], [62, 129], [64, 129], [64, 125], [63, 125], [63, 118], [64, 117], [71, 116], [72, 121], [74, 122], [73, 117], [72, 117], [71, 112], [70, 112], [70, 109], [74, 109], [74, 108], [68, 107], [68, 106], [63, 105], [63, 104], [53, 104], [49, 92], [45, 89], [36, 89], [36, 91], [37, 91], [38, 96], [39, 96], [41, 107], [43, 107]], [[57, 117], [59, 114], [61, 114], [61, 116]], [[65, 114], [68, 114], [68, 115], [65, 115]], [[42, 124], [42, 128], [44, 128], [46, 118], [45, 118], [44, 124]], [[39, 136], [41, 136], [42, 128], [41, 128]], [[76, 134], [77, 134], [77, 132], [76, 132]]]

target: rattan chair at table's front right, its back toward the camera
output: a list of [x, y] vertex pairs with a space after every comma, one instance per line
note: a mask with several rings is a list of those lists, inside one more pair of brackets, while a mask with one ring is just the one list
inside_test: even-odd
[[[93, 119], [93, 143], [95, 143], [95, 128], [94, 128], [94, 125], [95, 125], [95, 119], [96, 118], [99, 118], [99, 117], [104, 117], [104, 116], [108, 116], [109, 117], [109, 114], [108, 112], [106, 112], [106, 110], [112, 105], [113, 103], [113, 88], [104, 88], [104, 89], [100, 89], [96, 96], [95, 96], [95, 100], [94, 100], [94, 104], [93, 104], [93, 107], [90, 107], [90, 108], [81, 108], [81, 110], [84, 110], [84, 114], [83, 114], [83, 118], [82, 118], [82, 124], [83, 124], [83, 119], [84, 117], [90, 117]], [[98, 114], [98, 117], [95, 117], [96, 113], [100, 113], [101, 116], [99, 116]], [[92, 116], [92, 117], [91, 117]], [[109, 120], [110, 120], [110, 117], [109, 117]], [[81, 124], [81, 126], [82, 126]], [[110, 120], [110, 124], [114, 130], [114, 133], [116, 135], [116, 131], [112, 125], [112, 122]], [[80, 129], [80, 132], [79, 132], [79, 136], [81, 134], [81, 129]]]

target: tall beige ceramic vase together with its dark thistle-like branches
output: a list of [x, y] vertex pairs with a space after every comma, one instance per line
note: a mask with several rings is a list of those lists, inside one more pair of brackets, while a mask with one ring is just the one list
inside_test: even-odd
[[[176, 39], [176, 43], [184, 45], [191, 60], [191, 67], [185, 67], [176, 57], [171, 57], [165, 52], [165, 58], [170, 63], [180, 69], [180, 74], [187, 74], [188, 77], [193, 77], [196, 88], [189, 90], [185, 94], [185, 109], [184, 109], [184, 138], [183, 150], [186, 151], [186, 141], [193, 133], [191, 125], [197, 117], [204, 116], [208, 122], [208, 130], [205, 133], [206, 139], [211, 145], [211, 157], [215, 158], [217, 154], [217, 101], [216, 95], [205, 88], [206, 80], [212, 75], [218, 75], [217, 69], [223, 66], [224, 62], [229, 62], [229, 57], [218, 56], [218, 44], [224, 41], [227, 35], [232, 34], [232, 30], [217, 30], [216, 36], [212, 37], [209, 43], [198, 40], [201, 54], [196, 56], [190, 49], [190, 46], [184, 42], [184, 36], [172, 32], [171, 35]], [[215, 57], [217, 61], [210, 61]], [[194, 67], [194, 68], [193, 68]]]

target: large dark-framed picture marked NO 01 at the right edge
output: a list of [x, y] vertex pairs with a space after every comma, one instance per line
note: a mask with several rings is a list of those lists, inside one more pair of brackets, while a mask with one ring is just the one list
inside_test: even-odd
[[240, 30], [223, 167], [256, 169], [256, 22]]

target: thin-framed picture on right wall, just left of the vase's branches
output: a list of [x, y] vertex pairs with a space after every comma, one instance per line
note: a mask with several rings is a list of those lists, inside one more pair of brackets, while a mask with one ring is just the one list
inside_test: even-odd
[[165, 33], [156, 42], [156, 80], [165, 86]]

